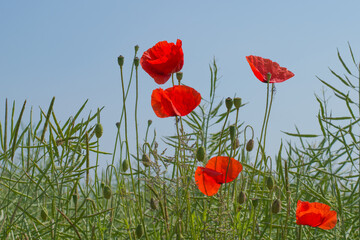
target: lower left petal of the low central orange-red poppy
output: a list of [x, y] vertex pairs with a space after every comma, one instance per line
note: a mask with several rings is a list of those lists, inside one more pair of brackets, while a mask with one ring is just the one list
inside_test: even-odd
[[[204, 171], [204, 167], [198, 167], [195, 171], [195, 183], [198, 186], [200, 192], [207, 196], [215, 195], [221, 186], [217, 183], [211, 173]], [[221, 173], [220, 173], [221, 174]]]

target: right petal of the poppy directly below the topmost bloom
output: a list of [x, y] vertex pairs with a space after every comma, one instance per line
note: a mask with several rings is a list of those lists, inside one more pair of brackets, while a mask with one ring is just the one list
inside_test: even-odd
[[174, 112], [178, 116], [186, 116], [191, 113], [201, 102], [201, 95], [195, 89], [176, 85], [165, 90], [167, 96], [171, 99]]

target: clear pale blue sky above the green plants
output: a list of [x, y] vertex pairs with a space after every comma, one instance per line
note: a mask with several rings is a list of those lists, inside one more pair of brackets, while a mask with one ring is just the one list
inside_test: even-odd
[[[101, 114], [102, 150], [112, 152], [122, 97], [117, 57], [125, 57], [129, 76], [134, 46], [140, 56], [158, 41], [183, 41], [183, 83], [209, 95], [209, 64], [215, 57], [219, 75], [217, 101], [239, 96], [248, 105], [241, 119], [260, 133], [266, 85], [257, 80], [247, 55], [270, 58], [295, 73], [277, 84], [267, 152], [278, 151], [281, 131], [319, 133], [314, 94], [342, 74], [337, 48], [350, 60], [349, 41], [360, 60], [360, 1], [0, 1], [0, 116], [5, 99], [21, 108], [26, 99], [35, 115], [56, 97], [54, 110], [63, 122], [86, 99], [85, 113]], [[350, 62], [350, 61], [349, 61]], [[150, 105], [159, 87], [140, 69], [139, 127], [148, 119], [158, 136], [175, 133], [172, 119], [158, 119]], [[335, 84], [336, 85], [336, 84]], [[161, 86], [170, 87], [170, 82]], [[132, 89], [134, 91], [134, 89]], [[330, 94], [331, 92], [328, 91]], [[133, 98], [129, 99], [130, 108]], [[345, 107], [331, 102], [334, 112]], [[86, 115], [84, 115], [85, 117]], [[133, 125], [130, 125], [133, 128]], [[110, 156], [103, 157], [110, 162]]]

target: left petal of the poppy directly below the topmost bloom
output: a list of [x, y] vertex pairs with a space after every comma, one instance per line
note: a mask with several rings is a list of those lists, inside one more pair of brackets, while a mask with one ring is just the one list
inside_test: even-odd
[[173, 110], [171, 101], [165, 91], [161, 88], [155, 89], [151, 94], [151, 106], [156, 114], [160, 118], [166, 118], [170, 116], [176, 116]]

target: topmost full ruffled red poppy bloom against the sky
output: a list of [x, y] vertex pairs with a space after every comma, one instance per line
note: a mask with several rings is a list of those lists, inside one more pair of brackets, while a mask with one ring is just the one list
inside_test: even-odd
[[179, 72], [184, 65], [184, 53], [180, 39], [174, 43], [158, 42], [149, 48], [140, 59], [142, 68], [155, 82], [164, 84], [172, 73]]

